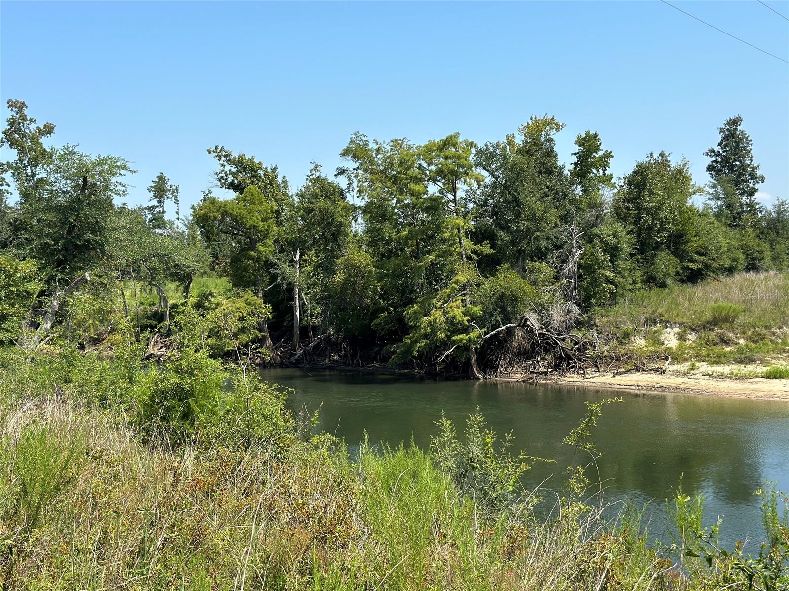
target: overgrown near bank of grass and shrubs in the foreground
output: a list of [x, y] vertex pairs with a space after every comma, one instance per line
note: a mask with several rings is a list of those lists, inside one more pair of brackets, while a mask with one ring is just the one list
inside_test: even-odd
[[787, 582], [777, 516], [761, 558], [715, 550], [708, 566], [713, 532], [680, 495], [671, 556], [699, 555], [680, 568], [649, 547], [634, 507], [600, 507], [584, 474], [599, 406], [568, 435], [578, 463], [563, 492], [540, 498], [518, 479], [535, 460], [495, 444], [481, 417], [460, 437], [440, 422], [429, 452], [363, 447], [352, 462], [286, 411], [279, 388], [197, 351], [144, 366], [135, 347], [113, 359], [2, 351], [2, 589]]

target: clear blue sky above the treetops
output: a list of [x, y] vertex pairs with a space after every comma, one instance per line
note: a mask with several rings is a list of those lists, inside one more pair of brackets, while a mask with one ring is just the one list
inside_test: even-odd
[[[757, 2], [672, 2], [789, 59], [789, 23]], [[789, 2], [769, 2], [789, 16]], [[352, 132], [484, 143], [555, 115], [570, 161], [600, 132], [617, 176], [649, 151], [690, 159], [741, 113], [789, 197], [787, 65], [660, 2], [2, 2], [2, 103], [28, 102], [59, 143], [163, 171], [181, 202], [211, 185], [207, 147], [277, 164], [298, 186], [333, 173]]]

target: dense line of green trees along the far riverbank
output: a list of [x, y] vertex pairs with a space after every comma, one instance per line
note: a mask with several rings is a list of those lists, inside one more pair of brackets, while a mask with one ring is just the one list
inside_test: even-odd
[[[614, 154], [592, 131], [564, 165], [563, 124], [533, 116], [488, 143], [355, 133], [342, 167], [314, 164], [297, 190], [276, 166], [216, 146], [215, 186], [233, 196], [204, 191], [187, 214], [164, 173], [147, 206], [126, 205], [130, 162], [54, 147], [53, 124], [38, 125], [24, 102], [8, 109], [0, 338], [25, 346], [47, 339], [89, 282], [105, 303], [122, 301], [138, 338], [166, 336], [178, 310], [230, 306], [244, 317], [244, 344], [274, 362], [341, 351], [350, 363], [481, 376], [503, 350], [534, 353], [518, 340], [527, 325], [532, 343], [548, 335], [547, 346], [577, 347], [589, 312], [628, 293], [789, 266], [789, 206], [757, 202], [765, 177], [739, 116], [705, 152], [705, 186], [664, 151], [615, 180]], [[192, 293], [205, 275], [234, 291]], [[174, 282], [181, 308], [169, 301]], [[134, 299], [138, 284], [155, 291], [153, 326], [125, 284]]]

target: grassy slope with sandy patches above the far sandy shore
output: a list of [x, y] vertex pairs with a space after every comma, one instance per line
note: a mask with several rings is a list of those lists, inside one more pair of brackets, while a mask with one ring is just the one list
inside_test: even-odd
[[789, 273], [738, 273], [628, 296], [596, 310], [611, 351], [671, 359], [693, 373], [784, 378], [789, 362]]

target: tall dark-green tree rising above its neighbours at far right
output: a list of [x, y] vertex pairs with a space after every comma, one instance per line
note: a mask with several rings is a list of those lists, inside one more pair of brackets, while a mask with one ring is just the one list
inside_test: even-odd
[[744, 218], [753, 215], [757, 208], [756, 195], [759, 184], [765, 182], [759, 174], [759, 165], [753, 162], [753, 140], [740, 128], [742, 117], [729, 117], [718, 128], [720, 141], [704, 155], [710, 158], [707, 172], [715, 189], [709, 199], [716, 214], [725, 215], [728, 225], [742, 227]]

